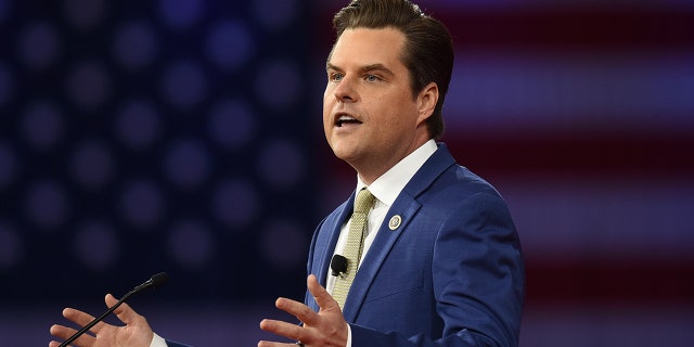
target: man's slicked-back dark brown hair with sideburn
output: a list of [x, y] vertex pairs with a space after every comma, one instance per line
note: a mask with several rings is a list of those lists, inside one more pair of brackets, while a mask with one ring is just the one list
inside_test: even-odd
[[446, 26], [409, 0], [352, 0], [333, 18], [336, 39], [347, 28], [395, 28], [406, 37], [401, 60], [410, 72], [412, 95], [436, 82], [439, 99], [426, 120], [429, 136], [444, 134], [444, 100], [453, 72], [453, 43]]

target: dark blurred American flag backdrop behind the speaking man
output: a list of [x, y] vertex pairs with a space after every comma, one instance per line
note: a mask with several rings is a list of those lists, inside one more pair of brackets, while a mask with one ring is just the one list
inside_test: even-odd
[[[345, 3], [0, 0], [0, 336], [44, 344], [159, 271], [132, 304], [197, 346], [301, 299], [355, 184], [321, 125]], [[445, 141], [518, 227], [522, 345], [689, 346], [694, 4], [420, 4], [455, 40]]]

